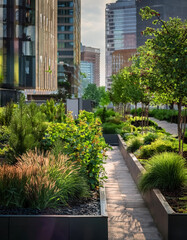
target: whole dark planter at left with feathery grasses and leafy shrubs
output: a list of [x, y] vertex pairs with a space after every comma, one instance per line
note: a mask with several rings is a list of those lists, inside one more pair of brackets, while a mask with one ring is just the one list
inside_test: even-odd
[[1, 144], [11, 150], [0, 165], [0, 239], [108, 239], [100, 120], [85, 111], [74, 120], [52, 100], [39, 107], [21, 98], [7, 121], [9, 112], [0, 117]]

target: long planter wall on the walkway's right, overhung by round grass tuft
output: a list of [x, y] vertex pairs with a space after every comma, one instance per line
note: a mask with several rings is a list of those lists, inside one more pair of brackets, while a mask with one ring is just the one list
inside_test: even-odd
[[[127, 167], [138, 184], [138, 178], [144, 170], [138, 159], [132, 153], [127, 152], [127, 147], [120, 135], [119, 148]], [[158, 189], [153, 189], [142, 197], [147, 204], [151, 215], [165, 240], [184, 240], [187, 239], [187, 214], [180, 214], [173, 211], [166, 199]]]

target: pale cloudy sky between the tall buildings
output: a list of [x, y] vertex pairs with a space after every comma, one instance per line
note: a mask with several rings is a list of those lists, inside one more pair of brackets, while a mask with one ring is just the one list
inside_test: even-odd
[[105, 85], [105, 7], [116, 0], [81, 0], [81, 41], [101, 51], [101, 86]]

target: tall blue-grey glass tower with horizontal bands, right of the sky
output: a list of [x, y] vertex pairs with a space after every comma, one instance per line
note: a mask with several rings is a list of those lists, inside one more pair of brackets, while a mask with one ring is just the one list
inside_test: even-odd
[[116, 50], [136, 49], [135, 0], [118, 0], [106, 5], [106, 87], [111, 88], [112, 54]]

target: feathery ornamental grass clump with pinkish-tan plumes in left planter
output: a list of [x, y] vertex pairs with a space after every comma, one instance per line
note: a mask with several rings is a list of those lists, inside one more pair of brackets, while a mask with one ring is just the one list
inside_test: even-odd
[[15, 166], [0, 166], [0, 205], [49, 208], [89, 196], [80, 167], [67, 157], [28, 152]]

